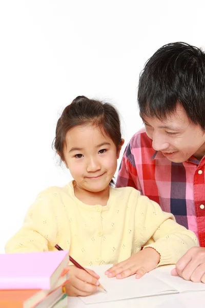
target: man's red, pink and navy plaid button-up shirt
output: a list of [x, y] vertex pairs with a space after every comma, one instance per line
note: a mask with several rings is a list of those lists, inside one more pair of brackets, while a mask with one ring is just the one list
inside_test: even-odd
[[145, 129], [128, 143], [119, 167], [116, 187], [132, 186], [171, 212], [192, 230], [205, 247], [205, 156], [183, 163], [169, 161], [152, 147]]

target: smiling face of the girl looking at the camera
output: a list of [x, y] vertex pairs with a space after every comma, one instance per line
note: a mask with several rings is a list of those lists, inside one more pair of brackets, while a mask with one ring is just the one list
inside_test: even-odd
[[[124, 140], [122, 140], [121, 146]], [[121, 146], [99, 128], [91, 125], [76, 126], [66, 134], [64, 157], [76, 185], [100, 192], [108, 188], [116, 168]]]

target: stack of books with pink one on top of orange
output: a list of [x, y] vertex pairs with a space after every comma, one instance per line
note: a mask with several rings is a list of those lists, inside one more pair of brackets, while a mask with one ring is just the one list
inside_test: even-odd
[[68, 263], [68, 251], [0, 255], [0, 307], [67, 307]]

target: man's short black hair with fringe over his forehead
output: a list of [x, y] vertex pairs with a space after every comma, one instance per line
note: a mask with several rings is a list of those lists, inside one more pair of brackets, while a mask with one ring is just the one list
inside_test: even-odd
[[205, 130], [205, 53], [183, 42], [159, 48], [140, 73], [138, 105], [148, 117], [166, 119], [179, 102]]

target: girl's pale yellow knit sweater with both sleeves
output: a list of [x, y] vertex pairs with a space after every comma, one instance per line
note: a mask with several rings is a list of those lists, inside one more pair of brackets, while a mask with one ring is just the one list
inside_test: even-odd
[[132, 187], [111, 187], [107, 205], [93, 206], [75, 197], [70, 182], [37, 196], [6, 253], [55, 251], [55, 244], [83, 266], [117, 263], [145, 246], [156, 249], [162, 265], [175, 264], [198, 241]]

